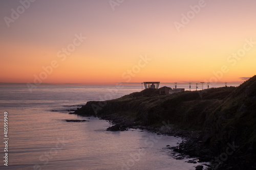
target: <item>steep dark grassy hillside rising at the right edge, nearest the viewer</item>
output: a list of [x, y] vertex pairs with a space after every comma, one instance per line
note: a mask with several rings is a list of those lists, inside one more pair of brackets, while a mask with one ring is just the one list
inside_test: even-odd
[[[241, 145], [256, 142], [256, 76], [237, 87], [211, 112], [205, 127], [218, 134], [212, 140], [236, 141]], [[212, 120], [214, 120], [212, 122]]]

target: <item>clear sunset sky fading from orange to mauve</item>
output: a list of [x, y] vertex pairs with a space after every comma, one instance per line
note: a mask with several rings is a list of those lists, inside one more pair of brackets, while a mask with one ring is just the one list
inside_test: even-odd
[[255, 0], [0, 2], [0, 82], [232, 82], [255, 75]]

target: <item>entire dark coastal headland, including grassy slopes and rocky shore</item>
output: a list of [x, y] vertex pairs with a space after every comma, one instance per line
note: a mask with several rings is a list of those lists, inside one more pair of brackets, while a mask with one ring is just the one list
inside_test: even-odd
[[169, 95], [145, 89], [87, 102], [74, 113], [112, 120], [113, 130], [165, 127], [163, 133], [188, 137], [181, 153], [211, 161], [216, 169], [256, 169], [256, 76], [239, 87]]

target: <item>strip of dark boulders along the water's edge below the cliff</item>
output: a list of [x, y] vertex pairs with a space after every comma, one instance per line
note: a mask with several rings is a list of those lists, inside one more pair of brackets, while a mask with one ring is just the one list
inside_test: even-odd
[[[189, 159], [187, 163], [201, 163], [209, 162], [212, 157], [208, 155], [207, 148], [204, 147], [200, 137], [201, 132], [186, 131], [175, 127], [169, 127], [168, 124], [163, 122], [161, 127], [153, 126], [141, 126], [135, 123], [134, 119], [124, 119], [122, 117], [116, 117], [113, 115], [100, 115], [97, 116], [100, 119], [108, 120], [112, 126], [107, 128], [107, 131], [125, 131], [128, 129], [140, 129], [146, 130], [148, 132], [156, 133], [158, 135], [168, 135], [174, 137], [181, 137], [182, 142], [179, 143], [177, 147], [169, 147], [167, 145], [164, 149], [170, 150], [176, 154], [171, 155], [175, 159]], [[196, 159], [195, 159], [196, 158]], [[215, 169], [214, 164], [204, 164], [195, 167], [196, 170], [202, 169]]]

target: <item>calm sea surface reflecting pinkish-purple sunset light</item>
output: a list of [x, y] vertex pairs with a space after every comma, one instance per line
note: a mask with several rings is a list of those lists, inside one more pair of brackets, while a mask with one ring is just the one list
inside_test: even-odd
[[[116, 99], [140, 90], [140, 85], [37, 86], [32, 90], [0, 86], [0, 169], [195, 169], [199, 163], [176, 160], [166, 149], [181, 138], [139, 129], [110, 132], [106, 128], [112, 125], [106, 120], [68, 114], [87, 101]], [[8, 112], [8, 166], [3, 158], [4, 112]]]

